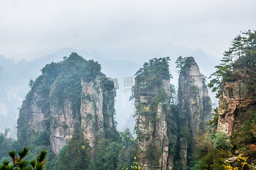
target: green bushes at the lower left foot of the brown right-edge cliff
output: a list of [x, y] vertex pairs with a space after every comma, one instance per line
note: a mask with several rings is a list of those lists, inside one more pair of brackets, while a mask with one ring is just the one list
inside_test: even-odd
[[225, 160], [230, 158], [233, 146], [226, 133], [216, 133], [217, 113], [216, 108], [213, 120], [207, 124], [210, 128], [196, 139], [198, 141], [198, 153], [195, 156], [197, 163], [191, 170], [225, 170], [223, 165]]

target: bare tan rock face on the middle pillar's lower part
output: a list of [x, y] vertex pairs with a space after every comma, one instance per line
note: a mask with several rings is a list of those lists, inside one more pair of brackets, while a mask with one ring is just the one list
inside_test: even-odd
[[[163, 80], [163, 89], [169, 89], [169, 80]], [[153, 93], [139, 93], [135, 97], [134, 105], [143, 109], [150, 108], [152, 103], [150, 99], [159, 96], [159, 90], [154, 88]], [[168, 93], [168, 90], [166, 91]], [[170, 94], [167, 95], [166, 103]], [[166, 170], [167, 158], [168, 158], [168, 145], [169, 140], [167, 137], [167, 123], [165, 120], [165, 114], [163, 104], [157, 105], [157, 113], [148, 109], [148, 113], [143, 114], [137, 110], [136, 117], [136, 133], [138, 135], [138, 148], [142, 151], [141, 160], [143, 164], [147, 164], [148, 170]], [[152, 113], [151, 113], [152, 112]], [[153, 156], [153, 162], [148, 157]]]

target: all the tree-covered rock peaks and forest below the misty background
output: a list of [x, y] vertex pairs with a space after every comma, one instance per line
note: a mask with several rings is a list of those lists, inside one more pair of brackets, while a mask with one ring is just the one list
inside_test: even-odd
[[[0, 169], [16, 159], [10, 150], [23, 150], [19, 164], [13, 161], [18, 169], [37, 155], [37, 166], [47, 170], [256, 169], [256, 31], [242, 35], [210, 76], [218, 107], [212, 108], [207, 77], [193, 57], [179, 56], [176, 68], [169, 57], [144, 63], [130, 97], [136, 139], [129, 129], [116, 129], [116, 87], [99, 63], [72, 53], [47, 64], [29, 82], [18, 139], [8, 129], [0, 134]], [[170, 84], [174, 70], [178, 89]]]

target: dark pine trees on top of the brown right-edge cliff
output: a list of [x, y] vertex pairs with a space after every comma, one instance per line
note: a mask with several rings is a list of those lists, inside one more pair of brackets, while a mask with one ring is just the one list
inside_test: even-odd
[[217, 98], [220, 96], [220, 85], [228, 81], [241, 80], [238, 76], [244, 74], [240, 70], [241, 66], [250, 68], [252, 73], [256, 71], [256, 31], [248, 30], [243, 34], [246, 37], [237, 35], [231, 41], [231, 47], [223, 53], [222, 63], [215, 66], [217, 70], [209, 77], [211, 80], [208, 87], [217, 92]]

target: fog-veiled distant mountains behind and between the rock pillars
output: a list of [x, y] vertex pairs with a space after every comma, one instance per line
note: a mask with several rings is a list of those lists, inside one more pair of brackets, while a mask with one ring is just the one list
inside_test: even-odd
[[[163, 48], [163, 47], [162, 47]], [[154, 50], [153, 50], [154, 49]], [[159, 51], [156, 51], [159, 49]], [[18, 118], [18, 108], [30, 90], [29, 80], [35, 80], [41, 74], [41, 69], [51, 62], [63, 60], [63, 56], [68, 56], [71, 52], [77, 52], [86, 60], [97, 60], [102, 65], [102, 72], [113, 79], [117, 78], [119, 89], [116, 97], [116, 121], [118, 130], [123, 131], [126, 127], [133, 130], [135, 120], [133, 101], [128, 101], [131, 92], [131, 84], [127, 84], [127, 78], [133, 83], [131, 77], [142, 67], [144, 62], [154, 58], [162, 50], [153, 48], [150, 45], [130, 45], [123, 48], [103, 49], [96, 51], [104, 60], [100, 59], [92, 50], [82, 51], [72, 48], [63, 48], [52, 53], [53, 49], [33, 51], [19, 54], [19, 58], [26, 58], [16, 61], [13, 58], [7, 59], [4, 54], [0, 55], [0, 131], [4, 132], [5, 127], [10, 128], [11, 136], [14, 137], [16, 121]], [[47, 54], [48, 53], [48, 54]], [[219, 64], [219, 58], [206, 54], [203, 50], [196, 48], [190, 49], [181, 45], [169, 45], [157, 57], [169, 56], [170, 70], [173, 75], [171, 83], [177, 86], [178, 74], [175, 72], [175, 60], [180, 55], [193, 56], [200, 67], [200, 72], [205, 76], [215, 71], [214, 66]], [[15, 55], [17, 58], [18, 55]], [[210, 93], [213, 103], [216, 103], [214, 94]]]

